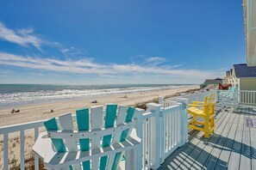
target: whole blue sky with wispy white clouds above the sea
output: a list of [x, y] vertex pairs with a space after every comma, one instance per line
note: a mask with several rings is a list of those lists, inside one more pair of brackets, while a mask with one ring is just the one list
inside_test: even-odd
[[0, 83], [201, 83], [246, 62], [242, 1], [1, 1]]

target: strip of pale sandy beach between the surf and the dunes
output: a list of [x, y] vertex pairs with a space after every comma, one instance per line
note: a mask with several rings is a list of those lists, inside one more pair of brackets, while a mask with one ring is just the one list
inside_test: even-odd
[[[159, 89], [153, 91], [144, 91], [127, 94], [128, 98], [124, 98], [125, 94], [110, 94], [105, 96], [93, 96], [91, 98], [79, 97], [69, 100], [55, 100], [49, 102], [35, 103], [18, 106], [20, 112], [10, 113], [13, 106], [1, 108], [0, 111], [0, 127], [11, 124], [22, 124], [31, 121], [37, 121], [46, 118], [53, 118], [66, 112], [74, 113], [79, 108], [105, 105], [107, 103], [116, 103], [118, 105], [135, 106], [136, 103], [147, 102], [159, 96], [182, 93], [186, 90], [198, 88], [198, 85], [185, 88]], [[91, 100], [97, 100], [97, 103], [91, 103]], [[54, 112], [51, 112], [53, 109]]]

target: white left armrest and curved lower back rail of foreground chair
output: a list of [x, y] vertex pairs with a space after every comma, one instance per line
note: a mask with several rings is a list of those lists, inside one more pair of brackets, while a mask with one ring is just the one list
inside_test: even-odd
[[134, 149], [140, 144], [139, 137], [128, 137], [126, 140], [115, 143], [108, 147], [91, 149], [89, 151], [77, 151], [59, 153], [53, 149], [51, 138], [47, 137], [47, 132], [43, 132], [34, 144], [34, 153], [40, 156], [47, 167], [59, 168], [68, 167], [93, 158], [100, 158], [104, 155], [116, 154], [128, 149]]

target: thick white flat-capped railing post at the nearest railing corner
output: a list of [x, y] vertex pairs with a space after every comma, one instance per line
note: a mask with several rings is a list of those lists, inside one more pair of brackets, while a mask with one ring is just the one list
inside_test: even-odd
[[161, 138], [160, 138], [160, 117], [159, 117], [159, 112], [160, 112], [160, 108], [162, 105], [156, 104], [156, 103], [148, 103], [147, 104], [147, 112], [153, 112], [154, 113], [154, 117], [153, 117], [153, 121], [152, 121], [152, 126], [149, 127], [151, 128], [151, 146], [148, 146], [150, 151], [151, 151], [151, 158], [153, 159], [154, 163], [153, 163], [153, 168], [157, 169], [160, 167], [160, 159], [161, 159], [161, 155], [160, 155], [160, 150], [161, 146]]

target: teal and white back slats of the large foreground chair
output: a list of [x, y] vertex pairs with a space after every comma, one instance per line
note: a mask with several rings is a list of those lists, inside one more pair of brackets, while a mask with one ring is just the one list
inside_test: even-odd
[[[118, 109], [117, 109], [118, 108]], [[114, 127], [115, 125], [123, 125], [134, 118], [134, 107], [117, 106], [109, 104], [103, 112], [103, 106], [91, 107], [91, 113], [88, 108], [76, 111], [78, 131], [101, 131]], [[91, 120], [91, 121], [90, 121]], [[91, 124], [90, 124], [91, 122]], [[72, 113], [67, 113], [59, 116], [59, 124], [56, 118], [52, 118], [45, 122], [47, 131], [75, 131]], [[132, 128], [126, 130], [113, 131], [112, 134], [104, 135], [103, 137], [95, 136], [91, 138], [51, 138], [53, 146], [57, 152], [78, 152], [89, 151], [91, 149], [101, 149], [109, 147], [115, 143], [122, 142], [130, 136]], [[116, 169], [122, 159], [123, 152], [111, 153], [102, 157], [94, 157], [91, 161], [84, 161], [82, 164], [72, 165], [64, 169]]]

